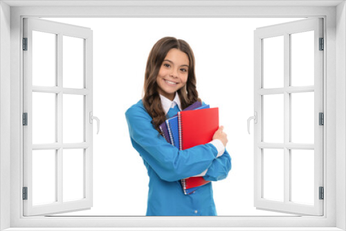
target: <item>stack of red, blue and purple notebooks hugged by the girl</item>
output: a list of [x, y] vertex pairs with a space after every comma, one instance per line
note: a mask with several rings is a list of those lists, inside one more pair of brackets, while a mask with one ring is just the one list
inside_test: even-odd
[[[202, 106], [201, 102], [197, 101], [159, 127], [165, 140], [179, 150], [204, 145], [212, 140], [215, 131], [219, 129], [219, 109], [210, 109], [208, 104]], [[192, 194], [199, 186], [207, 183], [209, 181], [202, 176], [181, 180], [184, 194]]]

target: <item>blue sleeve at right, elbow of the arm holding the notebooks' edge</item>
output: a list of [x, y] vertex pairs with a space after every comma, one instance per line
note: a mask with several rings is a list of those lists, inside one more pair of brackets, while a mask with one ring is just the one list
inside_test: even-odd
[[208, 168], [203, 178], [206, 181], [221, 181], [228, 176], [228, 172], [232, 167], [230, 154], [225, 150], [224, 154], [212, 161], [212, 165]]

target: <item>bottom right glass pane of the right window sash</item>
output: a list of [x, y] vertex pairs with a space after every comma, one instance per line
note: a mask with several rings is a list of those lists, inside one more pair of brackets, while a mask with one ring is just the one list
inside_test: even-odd
[[314, 151], [291, 150], [291, 201], [313, 205]]

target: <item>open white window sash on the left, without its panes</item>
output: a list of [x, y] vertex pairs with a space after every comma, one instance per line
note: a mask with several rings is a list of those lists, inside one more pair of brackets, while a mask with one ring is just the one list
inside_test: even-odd
[[[56, 86], [33, 86], [33, 31], [41, 31], [55, 35], [56, 39]], [[83, 42], [84, 70], [83, 89], [64, 88], [62, 76], [63, 64], [63, 37], [77, 37]], [[24, 113], [28, 113], [28, 124], [23, 128], [24, 134], [24, 187], [28, 189], [27, 199], [24, 200], [24, 216], [39, 214], [57, 214], [73, 210], [86, 210], [93, 206], [93, 124], [90, 122], [93, 113], [93, 33], [90, 28], [62, 24], [44, 19], [25, 18], [24, 37], [28, 39], [27, 50], [23, 52], [24, 57]], [[33, 93], [55, 93], [56, 94], [56, 140], [51, 144], [33, 144]], [[63, 142], [63, 96], [81, 95], [83, 98], [83, 142]], [[83, 150], [83, 198], [74, 201], [64, 201], [63, 198], [63, 151], [67, 149]], [[50, 150], [55, 151], [55, 202], [43, 205], [33, 205], [33, 151]]]

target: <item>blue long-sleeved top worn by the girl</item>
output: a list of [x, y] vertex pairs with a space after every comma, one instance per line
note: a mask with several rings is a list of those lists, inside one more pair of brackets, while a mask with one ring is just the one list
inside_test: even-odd
[[[167, 117], [178, 111], [178, 107], [171, 109]], [[210, 143], [179, 151], [154, 129], [142, 100], [127, 109], [125, 116], [132, 145], [143, 158], [149, 176], [147, 216], [216, 216], [212, 183], [185, 195], [180, 180], [205, 169], [206, 181], [226, 178], [231, 167], [228, 152], [217, 158], [217, 149]]]

